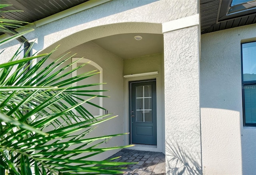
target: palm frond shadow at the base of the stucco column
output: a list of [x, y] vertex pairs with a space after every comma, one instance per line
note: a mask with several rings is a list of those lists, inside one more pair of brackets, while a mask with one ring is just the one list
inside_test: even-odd
[[[166, 174], [183, 175], [193, 174], [201, 175], [202, 167], [195, 161], [192, 155], [188, 154], [188, 151], [183, 150], [178, 143], [168, 141], [166, 144]], [[170, 164], [172, 163], [172, 164]]]

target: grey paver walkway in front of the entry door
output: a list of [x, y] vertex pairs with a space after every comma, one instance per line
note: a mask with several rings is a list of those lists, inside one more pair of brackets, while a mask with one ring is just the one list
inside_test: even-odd
[[165, 155], [160, 152], [138, 151], [132, 149], [122, 149], [109, 158], [122, 156], [113, 161], [138, 162], [134, 165], [125, 165], [122, 169], [125, 175], [165, 175]]

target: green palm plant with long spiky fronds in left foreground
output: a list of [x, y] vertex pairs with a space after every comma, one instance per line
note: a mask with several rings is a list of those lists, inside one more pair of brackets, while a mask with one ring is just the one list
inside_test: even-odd
[[[0, 8], [6, 6], [0, 5]], [[2, 39], [0, 45], [28, 32], [15, 33], [10, 29], [21, 27], [21, 23], [0, 18], [0, 31], [13, 33]], [[122, 134], [88, 137], [96, 125], [116, 117], [94, 118], [90, 110], [82, 106], [88, 103], [102, 108], [90, 102], [100, 96], [92, 93], [101, 90], [86, 90], [100, 84], [74, 85], [98, 72], [67, 78], [86, 64], [70, 70], [74, 64], [71, 61], [62, 65], [74, 55], [64, 54], [43, 68], [55, 49], [29, 57], [32, 46], [24, 58], [19, 58], [21, 46], [8, 63], [0, 64], [0, 174], [122, 173], [118, 171], [120, 167], [114, 166], [129, 163], [92, 160], [92, 156], [104, 151], [126, 147], [100, 147], [105, 140]]]

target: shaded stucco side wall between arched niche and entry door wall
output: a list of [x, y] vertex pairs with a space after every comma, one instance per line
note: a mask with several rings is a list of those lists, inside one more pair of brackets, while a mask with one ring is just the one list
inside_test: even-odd
[[[87, 42], [70, 49], [72, 53], [77, 53], [75, 57], [84, 57], [97, 63], [103, 69], [103, 89], [109, 90], [103, 92], [103, 95], [110, 98], [103, 98], [103, 107], [108, 109], [108, 114], [118, 115], [117, 118], [108, 120], [99, 125], [90, 136], [104, 136], [108, 134], [123, 133], [123, 59], [102, 49], [93, 42]], [[86, 66], [84, 67], [86, 69]], [[86, 80], [84, 82], [87, 83]], [[113, 105], [114, 104], [114, 105]], [[123, 146], [124, 136], [114, 137], [102, 147]], [[96, 159], [105, 159], [115, 151], [101, 154]]]

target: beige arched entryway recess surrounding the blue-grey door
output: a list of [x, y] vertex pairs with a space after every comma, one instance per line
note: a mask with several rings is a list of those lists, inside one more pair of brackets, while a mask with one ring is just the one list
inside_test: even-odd
[[[142, 39], [134, 38], [137, 35]], [[110, 90], [103, 95], [111, 97], [103, 98], [102, 104], [108, 109], [108, 113], [119, 117], [105, 122], [92, 134], [132, 132], [129, 82], [154, 79], [156, 142], [152, 145], [136, 144], [131, 149], [164, 152], [164, 55], [161, 24], [119, 23], [85, 29], [60, 39], [41, 53], [49, 52], [56, 45], [60, 46], [53, 57], [70, 51], [76, 53], [74, 57], [84, 57], [102, 67], [103, 83], [107, 83], [103, 85], [103, 89]], [[125, 135], [113, 138], [106, 144], [133, 144], [129, 142], [130, 137], [131, 135]]]

